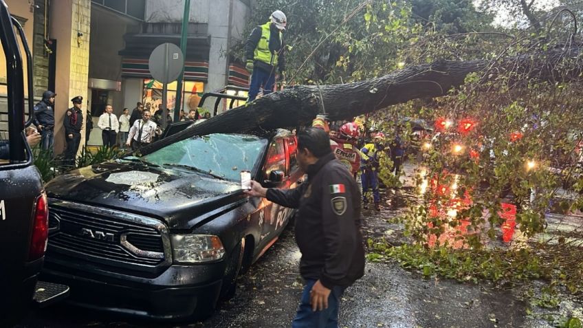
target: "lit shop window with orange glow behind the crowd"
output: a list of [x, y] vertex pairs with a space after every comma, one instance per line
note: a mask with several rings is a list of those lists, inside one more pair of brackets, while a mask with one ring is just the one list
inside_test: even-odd
[[[177, 82], [168, 84], [168, 95], [166, 103], [168, 109], [176, 107], [176, 87]], [[144, 98], [142, 103], [144, 108], [150, 109], [152, 114], [162, 107], [162, 83], [151, 78], [144, 79]], [[204, 91], [204, 83], [198, 81], [184, 81], [182, 85], [182, 111], [188, 113], [190, 109], [197, 109], [199, 101]]]

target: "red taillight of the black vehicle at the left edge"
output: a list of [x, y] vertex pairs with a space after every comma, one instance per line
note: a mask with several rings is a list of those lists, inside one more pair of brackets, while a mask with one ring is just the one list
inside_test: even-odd
[[47, 195], [42, 193], [36, 198], [34, 212], [32, 213], [34, 226], [32, 227], [32, 237], [30, 239], [30, 249], [28, 260], [34, 261], [45, 255], [47, 250], [47, 238], [49, 237], [49, 207]]

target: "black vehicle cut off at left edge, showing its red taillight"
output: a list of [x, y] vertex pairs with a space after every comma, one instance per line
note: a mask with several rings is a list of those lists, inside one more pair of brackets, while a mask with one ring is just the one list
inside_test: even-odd
[[[25, 121], [23, 61], [14, 28], [28, 58], [28, 110]], [[0, 40], [6, 61], [8, 106], [0, 110], [0, 327], [25, 316], [33, 297], [47, 305], [66, 296], [67, 287], [37, 283], [47, 245], [47, 197], [32, 164], [24, 129], [34, 118], [32, 56], [21, 25], [0, 0]], [[36, 294], [35, 294], [36, 291]]]

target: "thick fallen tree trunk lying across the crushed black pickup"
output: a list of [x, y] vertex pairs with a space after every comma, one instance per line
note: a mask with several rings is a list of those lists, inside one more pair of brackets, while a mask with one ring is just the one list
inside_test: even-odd
[[326, 113], [330, 120], [344, 120], [412, 99], [444, 96], [450, 89], [463, 85], [467, 74], [474, 72], [487, 78], [512, 72], [515, 78], [524, 80], [554, 81], [557, 76], [563, 80], [578, 80], [581, 79], [582, 61], [579, 47], [555, 47], [548, 52], [522, 54], [496, 63], [439, 61], [406, 67], [357, 83], [290, 87], [155, 142], [142, 149], [142, 154], [193, 135], [298, 127], [309, 124], [318, 113]]

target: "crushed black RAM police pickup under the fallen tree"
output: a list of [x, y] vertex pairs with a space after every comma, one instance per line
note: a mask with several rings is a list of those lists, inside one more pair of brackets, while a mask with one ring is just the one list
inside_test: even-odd
[[296, 138], [185, 137], [53, 179], [44, 276], [69, 284], [69, 300], [85, 307], [159, 319], [210, 314], [293, 214], [246, 197], [243, 170], [265, 186], [295, 186]]

